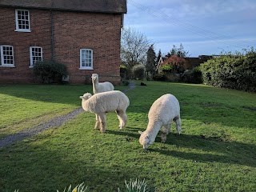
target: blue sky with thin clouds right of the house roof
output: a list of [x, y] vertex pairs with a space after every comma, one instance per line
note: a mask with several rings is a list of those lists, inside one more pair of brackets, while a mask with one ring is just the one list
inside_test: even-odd
[[184, 46], [188, 56], [256, 49], [255, 0], [127, 0], [124, 27], [145, 34], [158, 54]]

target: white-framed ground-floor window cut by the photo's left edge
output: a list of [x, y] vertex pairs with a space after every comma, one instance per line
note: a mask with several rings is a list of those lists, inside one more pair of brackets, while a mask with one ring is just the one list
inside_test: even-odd
[[13, 46], [1, 46], [1, 66], [14, 67]]

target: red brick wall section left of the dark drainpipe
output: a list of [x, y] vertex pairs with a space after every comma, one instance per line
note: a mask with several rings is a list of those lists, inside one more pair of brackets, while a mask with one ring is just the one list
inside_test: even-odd
[[[0, 66], [0, 82], [34, 82], [30, 69], [30, 46], [42, 46], [50, 58], [50, 14], [30, 10], [30, 33], [15, 32], [15, 9], [0, 7], [0, 45], [14, 46], [14, 68]], [[43, 31], [40, 30], [43, 27]]]

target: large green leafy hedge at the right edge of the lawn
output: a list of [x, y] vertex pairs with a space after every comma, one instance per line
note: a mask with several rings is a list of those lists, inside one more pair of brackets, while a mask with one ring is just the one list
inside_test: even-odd
[[256, 91], [256, 52], [226, 54], [201, 64], [206, 85], [235, 90]]

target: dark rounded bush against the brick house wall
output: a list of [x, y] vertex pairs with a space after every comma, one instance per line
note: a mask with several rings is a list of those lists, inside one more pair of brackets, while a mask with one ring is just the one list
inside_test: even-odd
[[67, 75], [66, 66], [60, 62], [36, 62], [33, 67], [34, 75], [42, 83], [62, 82], [62, 77]]

